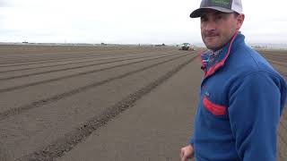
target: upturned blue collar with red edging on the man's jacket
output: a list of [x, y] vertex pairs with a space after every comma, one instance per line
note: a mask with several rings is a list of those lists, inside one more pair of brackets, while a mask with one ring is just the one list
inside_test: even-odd
[[218, 71], [220, 68], [222, 68], [222, 66], [224, 66], [227, 58], [230, 55], [231, 49], [234, 50], [234, 48], [240, 43], [244, 41], [244, 36], [237, 31], [233, 37], [231, 38], [230, 42], [227, 43], [226, 45], [224, 45], [224, 47], [222, 47], [221, 52], [219, 53], [218, 57], [217, 57], [217, 61], [215, 64], [213, 64], [212, 66], [208, 66], [208, 59], [209, 59], [209, 52], [208, 51], [204, 51], [203, 53], [200, 53], [199, 56], [201, 58], [201, 62], [202, 62], [202, 69], [204, 70], [204, 78], [210, 77], [211, 75], [213, 75], [216, 71]]

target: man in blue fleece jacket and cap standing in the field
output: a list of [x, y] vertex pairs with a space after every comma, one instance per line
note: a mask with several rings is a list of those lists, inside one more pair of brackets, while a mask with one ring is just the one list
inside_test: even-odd
[[240, 0], [202, 0], [200, 17], [209, 51], [200, 55], [204, 79], [194, 136], [182, 161], [274, 161], [276, 131], [286, 100], [286, 81], [244, 42]]

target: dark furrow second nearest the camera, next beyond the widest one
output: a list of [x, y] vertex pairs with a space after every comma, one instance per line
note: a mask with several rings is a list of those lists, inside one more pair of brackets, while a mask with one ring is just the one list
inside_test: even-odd
[[[189, 54], [188, 54], [189, 55]], [[50, 104], [52, 102], [56, 102], [57, 100], [60, 100], [62, 98], [65, 98], [65, 97], [71, 97], [77, 93], [80, 93], [80, 92], [83, 92], [85, 90], [88, 90], [88, 89], [91, 89], [91, 88], [96, 88], [100, 85], [103, 85], [103, 84], [106, 84], [110, 81], [113, 81], [113, 80], [118, 80], [118, 79], [122, 79], [126, 76], [129, 76], [129, 75], [132, 75], [132, 74], [135, 74], [136, 72], [143, 72], [144, 70], [148, 70], [150, 68], [153, 68], [155, 66], [159, 66], [161, 64], [166, 64], [166, 63], [169, 63], [169, 62], [172, 62], [174, 60], [177, 60], [181, 57], [184, 57], [184, 56], [187, 56], [187, 55], [180, 55], [178, 57], [173, 57], [171, 59], [168, 59], [166, 61], [163, 61], [161, 63], [158, 63], [158, 64], [152, 64], [150, 66], [146, 66], [146, 67], [143, 67], [141, 69], [137, 69], [135, 71], [132, 71], [132, 72], [126, 72], [124, 74], [121, 74], [121, 75], [118, 75], [116, 77], [112, 77], [112, 78], [109, 78], [107, 80], [101, 80], [99, 82], [95, 82], [95, 83], [92, 83], [90, 85], [87, 85], [87, 86], [83, 86], [81, 88], [78, 88], [78, 89], [73, 89], [73, 90], [70, 90], [70, 91], [67, 91], [65, 93], [62, 93], [62, 94], [58, 94], [58, 95], [55, 95], [53, 97], [48, 97], [48, 98], [45, 98], [45, 99], [40, 99], [38, 101], [35, 101], [35, 102], [32, 102], [30, 103], [29, 105], [25, 105], [25, 106], [19, 106], [19, 107], [15, 107], [15, 108], [12, 108], [12, 109], [9, 109], [9, 110], [6, 110], [2, 113], [0, 113], [0, 121], [6, 119], [6, 118], [9, 118], [10, 116], [13, 116], [13, 115], [16, 115], [16, 114], [21, 114], [22, 112], [24, 111], [27, 111], [29, 109], [32, 109], [32, 108], [37, 108], [39, 106], [44, 106], [44, 105], [47, 105], [47, 104]], [[154, 60], [154, 59], [152, 59]]]

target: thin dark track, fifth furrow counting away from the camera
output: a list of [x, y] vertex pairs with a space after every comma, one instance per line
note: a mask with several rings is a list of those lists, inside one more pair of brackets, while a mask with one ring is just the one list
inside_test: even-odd
[[[149, 55], [149, 54], [154, 54], [154, 53], [147, 53], [147, 55]], [[100, 56], [95, 56], [95, 57], [83, 58], [83, 59], [80, 59], [77, 62], [73, 62], [73, 63], [54, 64], [53, 65], [52, 63], [54, 63], [54, 62], [52, 62], [51, 63], [52, 65], [28, 67], [28, 68], [14, 69], [14, 70], [8, 70], [8, 71], [0, 71], [0, 73], [19, 72], [19, 71], [25, 71], [25, 70], [34, 70], [34, 69], [40, 69], [40, 68], [56, 67], [56, 66], [62, 66], [62, 65], [68, 65], [68, 64], [82, 64], [82, 63], [88, 63], [88, 62], [96, 62], [96, 61], [100, 61], [100, 60], [108, 60], [108, 59], [116, 59], [116, 58], [122, 58], [122, 57], [132, 57], [132, 56], [135, 56], [135, 55], [121, 55], [121, 56], [117, 56], [117, 57], [104, 57], [104, 58], [100, 58], [100, 59], [96, 59], [96, 60], [91, 60], [92, 58], [100, 57]], [[85, 59], [88, 59], [88, 60], [85, 60]], [[83, 61], [83, 60], [85, 60], [85, 61]]]

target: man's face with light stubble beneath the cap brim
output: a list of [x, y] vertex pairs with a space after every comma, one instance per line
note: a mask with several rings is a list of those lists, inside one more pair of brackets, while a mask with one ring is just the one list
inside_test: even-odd
[[204, 10], [201, 15], [201, 36], [207, 48], [213, 51], [220, 49], [239, 30], [244, 20], [234, 13], [222, 13], [212, 9]]

